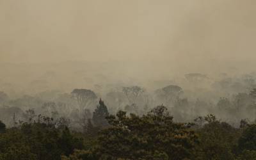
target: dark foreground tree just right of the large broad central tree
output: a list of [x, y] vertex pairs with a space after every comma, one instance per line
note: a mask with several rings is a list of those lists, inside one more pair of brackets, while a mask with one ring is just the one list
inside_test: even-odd
[[200, 143], [197, 146], [198, 159], [234, 159], [238, 129], [220, 122], [213, 115], [201, 118], [205, 120], [202, 128], [198, 129]]

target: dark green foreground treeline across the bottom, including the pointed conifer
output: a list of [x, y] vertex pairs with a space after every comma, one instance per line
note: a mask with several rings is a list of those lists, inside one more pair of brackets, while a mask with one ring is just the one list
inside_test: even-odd
[[[106, 118], [105, 118], [106, 117]], [[240, 127], [214, 115], [173, 120], [166, 107], [144, 115], [108, 115], [102, 100], [83, 132], [68, 120], [38, 115], [6, 128], [0, 123], [0, 159], [256, 159], [256, 124]]]

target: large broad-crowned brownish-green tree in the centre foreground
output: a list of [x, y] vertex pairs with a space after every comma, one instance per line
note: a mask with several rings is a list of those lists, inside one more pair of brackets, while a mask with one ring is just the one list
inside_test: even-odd
[[193, 157], [198, 137], [186, 124], [173, 122], [164, 106], [147, 115], [108, 117], [109, 129], [99, 137], [97, 155], [107, 159], [185, 159]]

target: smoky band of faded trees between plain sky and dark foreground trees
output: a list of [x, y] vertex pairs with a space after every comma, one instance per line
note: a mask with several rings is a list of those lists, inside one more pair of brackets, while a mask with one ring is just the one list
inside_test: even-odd
[[[5, 63], [0, 81], [1, 120], [12, 126], [13, 115], [26, 120], [28, 111], [33, 111], [35, 115], [68, 118], [79, 128], [76, 122], [92, 118], [99, 99], [104, 100], [111, 114], [123, 110], [142, 115], [163, 104], [179, 122], [208, 114], [234, 125], [244, 118], [255, 120], [253, 72], [172, 74], [165, 68], [160, 74], [156, 71], [161, 67], [130, 65], [116, 61]], [[85, 101], [79, 104], [75, 89], [90, 90], [95, 97], [86, 97], [86, 93], [82, 96]]]

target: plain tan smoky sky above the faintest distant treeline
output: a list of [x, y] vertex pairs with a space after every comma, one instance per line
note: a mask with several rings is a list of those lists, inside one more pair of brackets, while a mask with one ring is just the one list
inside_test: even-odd
[[0, 0], [0, 62], [157, 61], [202, 68], [215, 61], [254, 61], [255, 5], [254, 0]]

